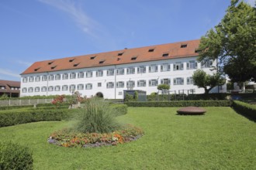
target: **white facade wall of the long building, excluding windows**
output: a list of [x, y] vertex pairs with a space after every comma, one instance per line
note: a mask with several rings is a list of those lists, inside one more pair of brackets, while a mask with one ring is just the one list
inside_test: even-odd
[[[170, 78], [171, 79], [171, 89], [170, 90], [176, 90], [176, 93], [178, 93], [178, 90], [191, 90], [194, 89], [195, 93], [204, 93], [204, 90], [202, 88], [197, 88], [196, 86], [192, 84], [187, 84], [186, 78], [189, 76], [192, 76], [193, 72], [195, 70], [187, 70], [186, 68], [186, 62], [190, 60], [195, 60], [196, 57], [188, 57], [188, 58], [181, 58], [181, 59], [164, 59], [164, 60], [157, 60], [157, 61], [149, 61], [149, 62], [144, 62], [144, 63], [130, 63], [130, 64], [123, 64], [123, 65], [116, 65], [116, 66], [101, 66], [101, 67], [94, 67], [94, 68], [85, 68], [85, 69], [78, 69], [78, 70], [63, 70], [63, 71], [55, 71], [55, 72], [49, 72], [49, 73], [33, 73], [33, 74], [26, 74], [22, 75], [22, 78], [24, 76], [29, 77], [29, 76], [43, 76], [43, 75], [50, 75], [50, 74], [61, 74], [61, 80], [47, 80], [47, 81], [42, 81], [42, 77], [40, 82], [36, 82], [35, 79], [33, 82], [28, 82], [23, 83], [21, 80], [21, 97], [24, 96], [35, 96], [35, 95], [54, 95], [54, 94], [71, 94], [69, 90], [67, 91], [47, 91], [47, 92], [42, 92], [41, 87], [50, 87], [50, 86], [61, 86], [62, 85], [68, 85], [68, 87], [71, 84], [77, 85], [80, 83], [83, 83], [84, 85], [86, 83], [92, 83], [92, 90], [78, 90], [79, 93], [81, 93], [82, 96], [87, 96], [91, 97], [94, 96], [96, 93], [101, 92], [104, 95], [104, 98], [108, 99], [122, 99], [123, 98], [123, 90], [127, 90], [126, 87], [126, 82], [129, 80], [135, 81], [135, 87], [133, 90], [146, 90], [147, 94], [157, 92], [157, 87], [149, 87], [149, 80], [151, 79], [157, 79], [158, 84], [160, 84], [160, 80], [164, 78]], [[184, 64], [183, 68], [184, 70], [173, 70], [173, 65], [176, 62], [182, 62]], [[170, 64], [171, 70], [166, 71], [166, 72], [161, 72], [161, 64]], [[149, 66], [152, 64], [156, 64], [158, 66], [158, 71], [157, 73], [149, 73]], [[135, 67], [135, 73], [134, 74], [126, 74], [126, 68], [134, 66]], [[137, 73], [137, 67], [138, 66], [146, 66], [146, 73]], [[213, 66], [216, 66], [216, 62], [213, 62]], [[107, 70], [113, 68], [113, 69], [118, 69], [118, 68], [125, 68], [125, 73], [124, 75], [116, 75], [116, 76], [107, 76]], [[198, 63], [198, 69], [201, 69], [200, 63]], [[88, 70], [93, 71], [93, 76], [91, 78], [78, 78], [78, 73], [79, 72], [87, 72]], [[96, 70], [103, 70], [103, 76], [96, 76]], [[216, 70], [211, 71], [209, 68], [204, 68], [203, 70], [206, 71], [206, 73], [213, 73], [216, 72]], [[77, 73], [76, 79], [67, 79], [67, 80], [62, 80], [62, 74], [63, 73]], [[116, 80], [115, 80], [116, 77]], [[175, 77], [183, 77], [184, 78], [184, 84], [183, 85], [174, 85], [174, 78]], [[146, 87], [137, 87], [137, 80], [146, 80], [147, 81], [147, 86]], [[118, 82], [118, 81], [124, 81], [124, 88], [111, 88], [107, 89], [106, 88], [106, 83], [107, 82]], [[97, 87], [98, 83], [102, 83], [102, 87]], [[29, 88], [33, 87], [33, 92], [29, 93], [28, 91], [26, 93], [22, 92], [23, 88]], [[34, 88], [35, 87], [40, 87], [40, 92], [35, 92]], [[116, 97], [115, 97], [116, 95]]]

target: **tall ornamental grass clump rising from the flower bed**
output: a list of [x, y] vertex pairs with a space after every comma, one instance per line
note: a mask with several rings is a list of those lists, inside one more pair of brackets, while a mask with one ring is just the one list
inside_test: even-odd
[[120, 127], [115, 118], [116, 110], [99, 98], [87, 100], [85, 108], [79, 111], [75, 129], [82, 133], [109, 133]]

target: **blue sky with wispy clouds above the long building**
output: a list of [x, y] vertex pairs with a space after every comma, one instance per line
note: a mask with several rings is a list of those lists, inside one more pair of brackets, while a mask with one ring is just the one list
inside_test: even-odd
[[200, 39], [228, 5], [228, 0], [2, 0], [0, 80], [20, 80], [19, 74], [40, 60]]

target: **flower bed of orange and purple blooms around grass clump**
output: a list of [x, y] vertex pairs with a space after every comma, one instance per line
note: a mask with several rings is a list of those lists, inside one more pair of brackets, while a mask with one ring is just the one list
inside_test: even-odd
[[137, 140], [143, 136], [141, 128], [126, 124], [122, 129], [108, 134], [79, 133], [71, 129], [63, 129], [50, 134], [48, 143], [64, 147], [93, 148], [106, 145], [119, 145], [129, 141]]

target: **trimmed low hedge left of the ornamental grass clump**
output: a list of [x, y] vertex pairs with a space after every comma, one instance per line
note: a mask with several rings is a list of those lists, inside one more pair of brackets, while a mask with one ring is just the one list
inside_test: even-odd
[[26, 124], [35, 121], [61, 121], [68, 119], [76, 112], [75, 109], [16, 109], [0, 112], [0, 127], [15, 124]]

